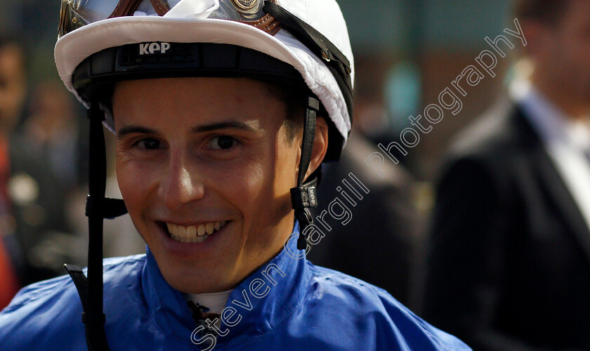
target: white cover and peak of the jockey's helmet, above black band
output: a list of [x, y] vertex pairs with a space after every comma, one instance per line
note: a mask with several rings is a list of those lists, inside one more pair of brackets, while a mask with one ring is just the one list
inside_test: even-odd
[[[277, 0], [63, 0], [55, 62], [68, 90], [89, 107], [72, 75], [82, 61], [106, 48], [142, 43], [144, 53], [155, 55], [165, 53], [162, 43], [250, 48], [287, 62], [301, 74], [341, 135], [343, 148], [351, 128], [354, 62], [341, 10], [334, 0], [279, 0], [274, 6], [296, 16], [333, 44], [329, 47], [325, 43], [318, 53], [264, 11], [276, 4]], [[334, 58], [332, 48], [343, 54], [342, 58]], [[348, 88], [338, 82], [347, 77], [335, 77], [329, 68], [332, 60], [342, 59], [347, 61], [343, 63], [350, 79]]]

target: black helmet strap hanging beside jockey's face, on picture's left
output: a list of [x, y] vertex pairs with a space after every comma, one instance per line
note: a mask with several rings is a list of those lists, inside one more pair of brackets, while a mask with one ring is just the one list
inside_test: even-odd
[[105, 198], [107, 162], [103, 120], [105, 114], [94, 104], [90, 119], [89, 195], [86, 216], [89, 223], [88, 278], [75, 265], [64, 265], [76, 285], [82, 303], [86, 345], [91, 351], [109, 350], [103, 313], [103, 219], [127, 213], [123, 200]]

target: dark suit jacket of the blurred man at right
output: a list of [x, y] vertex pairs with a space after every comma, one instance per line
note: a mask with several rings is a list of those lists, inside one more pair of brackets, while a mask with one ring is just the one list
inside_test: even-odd
[[422, 317], [474, 350], [590, 350], [590, 232], [518, 107], [452, 147], [427, 264]]

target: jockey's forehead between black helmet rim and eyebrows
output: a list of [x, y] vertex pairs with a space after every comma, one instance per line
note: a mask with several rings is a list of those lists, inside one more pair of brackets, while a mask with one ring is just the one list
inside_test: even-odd
[[[275, 86], [245, 78], [183, 77], [122, 81], [114, 86], [117, 119], [165, 115], [189, 119], [251, 119], [286, 116], [286, 103]], [[229, 116], [228, 116], [229, 115]]]

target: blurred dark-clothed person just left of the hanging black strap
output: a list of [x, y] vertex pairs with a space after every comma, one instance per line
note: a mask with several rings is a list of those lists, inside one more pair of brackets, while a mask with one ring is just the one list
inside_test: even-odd
[[28, 282], [62, 274], [68, 260], [84, 260], [66, 211], [79, 182], [78, 116], [57, 83], [34, 86], [30, 113], [12, 138], [11, 195]]

